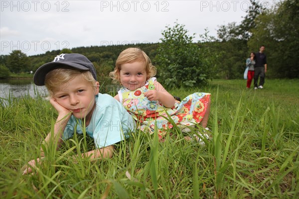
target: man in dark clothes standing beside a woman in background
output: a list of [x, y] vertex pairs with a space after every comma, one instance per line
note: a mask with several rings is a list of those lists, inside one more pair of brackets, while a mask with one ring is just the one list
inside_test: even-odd
[[[267, 72], [267, 56], [264, 53], [265, 46], [260, 47], [260, 51], [255, 53], [256, 64], [254, 66], [254, 89], [264, 88], [265, 77]], [[260, 77], [260, 82], [258, 86], [258, 80]]]

